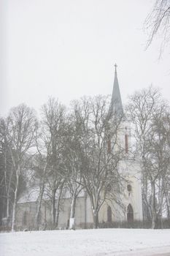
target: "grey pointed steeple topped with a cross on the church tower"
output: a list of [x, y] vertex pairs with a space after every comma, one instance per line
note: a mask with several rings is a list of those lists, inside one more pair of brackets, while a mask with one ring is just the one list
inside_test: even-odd
[[123, 105], [122, 99], [120, 96], [119, 83], [117, 79], [117, 64], [115, 64], [115, 79], [113, 83], [113, 91], [112, 91], [112, 100], [109, 108], [109, 112], [111, 114], [115, 113], [116, 115], [123, 115]]

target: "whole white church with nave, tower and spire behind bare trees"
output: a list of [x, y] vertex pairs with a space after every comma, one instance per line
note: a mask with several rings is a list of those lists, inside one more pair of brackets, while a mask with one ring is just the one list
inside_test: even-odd
[[[112, 90], [112, 99], [109, 111], [123, 113], [123, 104], [120, 95], [120, 87], [117, 79], [117, 65], [115, 64], [115, 78]], [[128, 148], [133, 142], [131, 132], [131, 124], [125, 118], [121, 124], [120, 140], [125, 148], [125, 157], [120, 160], [118, 168], [119, 172], [125, 177], [123, 181], [123, 192], [120, 195], [121, 204], [115, 203], [112, 199], [106, 199], [98, 213], [98, 223], [113, 222], [134, 222], [142, 221], [142, 186], [141, 186], [141, 168], [138, 157], [131, 157]], [[16, 217], [16, 225], [18, 229], [34, 229], [34, 220], [36, 216], [37, 191], [23, 194], [18, 200], [18, 211]], [[56, 198], [57, 200], [57, 198]], [[69, 227], [70, 219], [70, 203], [71, 197], [66, 192], [62, 197], [61, 212], [58, 219], [58, 228], [65, 229]], [[43, 198], [41, 217], [39, 219], [40, 226], [47, 225], [50, 227], [51, 213], [47, 198]], [[109, 225], [108, 225], [109, 226]], [[93, 214], [90, 198], [87, 193], [82, 190], [77, 197], [75, 209], [75, 227], [88, 228], [93, 227]]]

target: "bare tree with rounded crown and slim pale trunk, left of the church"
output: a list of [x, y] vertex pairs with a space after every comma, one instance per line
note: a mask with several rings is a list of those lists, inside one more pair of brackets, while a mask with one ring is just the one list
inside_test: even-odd
[[12, 207], [12, 231], [14, 231], [20, 177], [24, 170], [26, 170], [28, 162], [26, 154], [35, 146], [34, 132], [36, 129], [36, 117], [34, 110], [22, 104], [12, 108], [7, 121], [8, 139], [10, 141], [9, 151], [15, 175], [15, 194]]

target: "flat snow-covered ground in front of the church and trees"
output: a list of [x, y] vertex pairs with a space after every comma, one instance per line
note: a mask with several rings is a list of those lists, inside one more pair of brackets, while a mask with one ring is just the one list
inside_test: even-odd
[[170, 255], [170, 230], [53, 230], [0, 234], [1, 256], [128, 256], [162, 252]]

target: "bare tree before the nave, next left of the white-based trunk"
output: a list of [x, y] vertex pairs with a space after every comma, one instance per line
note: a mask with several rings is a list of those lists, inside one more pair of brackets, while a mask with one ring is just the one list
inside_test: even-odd
[[[50, 190], [51, 216], [53, 227], [58, 225], [59, 200], [65, 177], [62, 173], [63, 162], [63, 131], [65, 124], [65, 108], [58, 101], [50, 98], [42, 107], [42, 136], [47, 148], [50, 172], [47, 178], [48, 190]], [[57, 209], [55, 209], [55, 195], [58, 194]], [[55, 218], [57, 216], [57, 218]], [[56, 222], [57, 221], [57, 222]]]

